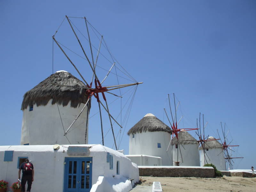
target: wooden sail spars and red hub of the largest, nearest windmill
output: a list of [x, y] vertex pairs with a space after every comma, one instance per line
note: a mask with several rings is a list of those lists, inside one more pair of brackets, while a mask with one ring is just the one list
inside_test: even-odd
[[[88, 20], [87, 20], [85, 17], [83, 17], [83, 18], [81, 17], [81, 19], [83, 19], [84, 22], [85, 22], [85, 27], [86, 27], [87, 36], [88, 36], [88, 42], [89, 42], [89, 45], [90, 45], [90, 53], [89, 53], [89, 55], [91, 54], [91, 58], [92, 58], [91, 61], [90, 61], [89, 55], [86, 53], [86, 51], [85, 51], [85, 49], [84, 49], [84, 47], [83, 47], [83, 45], [82, 45], [80, 39], [78, 38], [78, 36], [77, 36], [77, 34], [76, 34], [76, 31], [75, 31], [75, 29], [74, 29], [74, 26], [73, 26], [74, 24], [71, 22], [70, 17], [68, 17], [68, 16], [66, 15], [65, 18], [67, 19], [68, 24], [69, 24], [70, 28], [72, 29], [73, 34], [74, 34], [74, 36], [76, 37], [76, 40], [77, 40], [77, 42], [78, 42], [80, 48], [82, 49], [82, 52], [83, 52], [83, 54], [84, 54], [84, 56], [85, 56], [84, 59], [88, 61], [88, 64], [89, 64], [89, 66], [90, 66], [90, 68], [91, 68], [91, 70], [92, 70], [92, 80], [90, 81], [90, 83], [88, 83], [88, 82], [85, 80], [85, 78], [82, 76], [82, 74], [80, 73], [80, 71], [78, 70], [78, 68], [77, 68], [76, 65], [74, 64], [74, 62], [68, 57], [68, 54], [63, 50], [62, 46], [64, 46], [64, 45], [60, 44], [60, 43], [56, 40], [56, 38], [55, 38], [55, 37], [56, 37], [55, 35], [56, 35], [56, 33], [58, 32], [58, 30], [57, 30], [57, 31], [55, 32], [55, 34], [52, 36], [53, 42], [55, 42], [55, 43], [58, 45], [58, 47], [60, 48], [61, 52], [65, 55], [65, 57], [68, 59], [68, 61], [69, 61], [69, 62], [72, 64], [72, 66], [76, 69], [77, 73], [78, 73], [79, 76], [83, 79], [83, 81], [84, 81], [84, 83], [85, 83], [86, 86], [85, 86], [85, 87], [81, 87], [81, 86], [78, 87], [78, 86], [62, 85], [62, 84], [53, 84], [53, 85], [71, 86], [71, 87], [74, 87], [74, 88], [86, 89], [86, 94], [87, 94], [87, 101], [86, 101], [86, 103], [84, 104], [84, 107], [82, 108], [82, 110], [80, 111], [80, 113], [76, 116], [76, 118], [74, 119], [74, 121], [70, 124], [70, 126], [68, 127], [68, 129], [66, 129], [66, 131], [64, 131], [64, 135], [67, 136], [67, 134], [68, 134], [70, 128], [72, 127], [72, 125], [76, 122], [76, 120], [77, 120], [77, 119], [79, 118], [79, 116], [82, 114], [82, 112], [84, 111], [85, 107], [88, 106], [88, 103], [91, 101], [92, 97], [94, 97], [94, 98], [96, 98], [96, 100], [97, 100], [97, 102], [98, 102], [98, 107], [99, 107], [99, 111], [100, 111], [102, 144], [104, 145], [103, 124], [102, 124], [102, 114], [101, 114], [101, 110], [102, 110], [102, 109], [101, 109], [101, 106], [104, 108], [104, 110], [105, 110], [105, 111], [107, 112], [107, 114], [108, 114], [108, 118], [109, 118], [111, 130], [112, 130], [112, 134], [113, 134], [113, 138], [114, 138], [115, 148], [116, 148], [116, 150], [117, 150], [116, 138], [115, 138], [115, 134], [114, 134], [114, 129], [113, 129], [112, 120], [114, 120], [114, 122], [115, 122], [116, 124], [118, 124], [118, 126], [120, 126], [120, 128], [122, 128], [122, 125], [119, 124], [119, 123], [117, 122], [117, 120], [111, 115], [111, 113], [110, 113], [110, 111], [109, 111], [109, 107], [108, 107], [107, 98], [106, 98], [106, 96], [105, 96], [105, 92], [106, 92], [106, 93], [109, 93], [109, 94], [112, 94], [112, 95], [114, 95], [114, 96], [116, 96], [116, 97], [122, 98], [122, 95], [116, 95], [116, 94], [114, 94], [114, 93], [112, 93], [112, 92], [110, 92], [110, 91], [116, 90], [116, 89], [121, 89], [121, 88], [128, 87], [128, 86], [134, 86], [134, 85], [137, 85], [137, 86], [138, 86], [138, 84], [142, 84], [143, 82], [135, 82], [135, 83], [132, 83], [132, 84], [119, 84], [119, 82], [118, 82], [117, 85], [102, 86], [102, 83], [106, 80], [106, 78], [108, 77], [108, 75], [109, 75], [109, 73], [111, 72], [112, 68], [113, 68], [113, 67], [116, 67], [116, 66], [115, 66], [116, 62], [113, 62], [113, 65], [112, 65], [111, 68], [108, 70], [107, 75], [106, 75], [106, 76], [101, 80], [101, 82], [100, 82], [100, 79], [99, 79], [99, 77], [98, 77], [98, 75], [97, 75], [95, 69], [96, 69], [96, 66], [97, 66], [97, 61], [98, 61], [98, 57], [99, 57], [99, 53], [100, 53], [100, 48], [101, 48], [102, 42], [105, 43], [103, 36], [101, 35], [100, 44], [99, 44], [99, 48], [98, 48], [98, 51], [97, 51], [97, 56], [96, 56], [96, 59], [95, 59], [95, 61], [94, 61], [93, 52], [92, 52], [92, 43], [91, 43], [90, 33], [89, 33], [89, 30], [88, 30], [88, 24], [87, 24], [87, 23], [89, 23], [89, 22], [88, 22]], [[65, 19], [65, 18], [64, 18], [64, 19]], [[63, 20], [63, 21], [64, 21], [64, 20]], [[62, 23], [63, 23], [63, 21], [62, 21]], [[62, 23], [61, 23], [61, 24], [62, 24]], [[73, 25], [72, 25], [72, 24], [73, 24]], [[90, 23], [89, 23], [89, 24], [90, 24]], [[90, 24], [90, 25], [91, 25], [91, 24]], [[75, 26], [75, 27], [76, 27], [76, 26]], [[59, 28], [60, 28], [60, 27], [59, 27]], [[58, 29], [59, 29], [59, 28], [58, 28]], [[77, 28], [76, 28], [76, 29], [77, 29]], [[77, 29], [77, 30], [78, 30], [78, 29]], [[79, 30], [78, 30], [78, 31], [79, 31]], [[96, 30], [96, 31], [97, 31], [97, 30]], [[80, 31], [79, 31], [79, 32], [80, 32]], [[97, 32], [98, 32], [98, 31], [97, 31]], [[81, 32], [80, 32], [80, 33], [81, 33]], [[84, 35], [83, 35], [83, 36], [84, 36]], [[65, 46], [64, 46], [64, 47], [65, 47]], [[107, 44], [106, 44], [106, 43], [105, 43], [105, 47], [106, 47], [107, 50], [108, 50], [108, 47], [107, 47]], [[109, 50], [108, 50], [108, 52], [109, 52]], [[110, 52], [109, 52], [109, 54], [111, 55]], [[80, 56], [80, 57], [81, 57], [81, 56]], [[111, 55], [111, 58], [112, 58], [112, 55]], [[121, 67], [122, 67], [122, 66], [121, 66]], [[122, 68], [123, 68], [123, 67], [122, 67]], [[124, 69], [124, 68], [123, 68], [123, 69]], [[124, 69], [124, 71], [127, 72], [125, 69]], [[124, 72], [123, 72], [123, 73], [124, 73]], [[127, 72], [127, 74], [128, 74], [128, 75], [126, 75], [126, 76], [128, 76], [129, 78], [135, 80], [128, 72]], [[116, 76], [117, 76], [117, 74], [116, 74]], [[93, 79], [94, 79], [94, 81], [93, 81]], [[118, 79], [117, 79], [117, 80], [118, 80]], [[92, 84], [94, 84], [95, 88], [92, 87]], [[103, 100], [105, 101], [105, 105], [101, 102], [101, 99], [100, 99], [100, 96], [99, 96], [100, 93], [101, 93], [101, 95], [102, 95]], [[120, 94], [121, 94], [121, 92], [120, 92]], [[87, 121], [88, 121], [88, 115], [89, 115], [89, 113], [87, 113]], [[88, 123], [86, 123], [86, 124], [88, 124]], [[86, 126], [86, 129], [87, 129], [87, 126]], [[86, 130], [86, 134], [87, 134], [87, 130]], [[85, 137], [86, 137], [86, 136], [85, 136]]]

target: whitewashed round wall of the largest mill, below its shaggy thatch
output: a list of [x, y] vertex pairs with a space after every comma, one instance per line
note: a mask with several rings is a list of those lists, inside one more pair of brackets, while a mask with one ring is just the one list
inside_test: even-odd
[[[21, 140], [20, 144], [24, 145], [53, 145], [53, 144], [85, 144], [85, 124], [87, 117], [87, 107], [70, 128], [67, 138], [64, 136], [64, 130], [61, 124], [60, 115], [65, 131], [80, 113], [84, 103], [77, 108], [70, 107], [70, 101], [67, 106], [59, 105], [60, 114], [57, 104], [52, 105], [52, 100], [46, 106], [34, 105], [33, 111], [29, 111], [29, 106], [23, 110]], [[86, 144], [88, 143], [88, 129]]]

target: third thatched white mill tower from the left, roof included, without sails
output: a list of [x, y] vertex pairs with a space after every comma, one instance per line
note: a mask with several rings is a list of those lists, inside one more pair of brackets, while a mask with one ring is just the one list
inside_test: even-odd
[[[179, 140], [179, 143], [178, 143]], [[187, 131], [178, 133], [171, 142], [173, 166], [200, 166], [198, 142]]]

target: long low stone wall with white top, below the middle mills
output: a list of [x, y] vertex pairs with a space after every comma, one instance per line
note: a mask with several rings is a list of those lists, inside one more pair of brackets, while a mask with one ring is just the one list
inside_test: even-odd
[[189, 166], [139, 166], [139, 174], [153, 177], [214, 177], [214, 169]]

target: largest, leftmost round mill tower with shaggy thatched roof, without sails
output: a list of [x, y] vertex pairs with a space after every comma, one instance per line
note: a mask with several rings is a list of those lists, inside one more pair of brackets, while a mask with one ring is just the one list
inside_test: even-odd
[[21, 105], [21, 145], [88, 143], [90, 102], [87, 105], [89, 109], [85, 107], [67, 137], [64, 136], [64, 130], [68, 129], [87, 101], [85, 89], [61, 85], [85, 86], [67, 71], [57, 71], [25, 93]]

